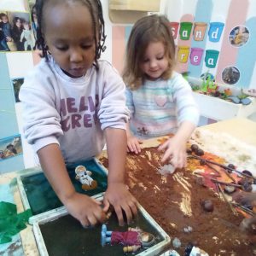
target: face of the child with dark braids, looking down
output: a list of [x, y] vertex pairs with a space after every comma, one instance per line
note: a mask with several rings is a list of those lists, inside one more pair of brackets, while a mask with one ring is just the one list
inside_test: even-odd
[[70, 77], [79, 78], [95, 58], [95, 40], [89, 10], [81, 3], [44, 9], [44, 38], [56, 63]]

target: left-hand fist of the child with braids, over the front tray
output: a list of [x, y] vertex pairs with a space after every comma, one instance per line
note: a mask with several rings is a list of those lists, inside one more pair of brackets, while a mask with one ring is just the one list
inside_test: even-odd
[[101, 204], [100, 201], [75, 192], [65, 203], [65, 207], [74, 218], [79, 220], [83, 227], [89, 227], [105, 221], [106, 214], [103, 212]]

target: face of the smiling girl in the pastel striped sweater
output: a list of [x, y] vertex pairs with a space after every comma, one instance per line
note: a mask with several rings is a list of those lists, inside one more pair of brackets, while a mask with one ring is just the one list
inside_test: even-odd
[[152, 42], [140, 62], [140, 68], [149, 79], [159, 79], [168, 67], [165, 45], [162, 42]]

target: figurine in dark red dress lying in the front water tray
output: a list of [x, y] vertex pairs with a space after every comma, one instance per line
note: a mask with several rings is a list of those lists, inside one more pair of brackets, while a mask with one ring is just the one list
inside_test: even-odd
[[124, 253], [134, 253], [139, 248], [148, 248], [154, 243], [154, 236], [144, 232], [140, 228], [128, 228], [128, 231], [109, 231], [107, 226], [102, 224], [102, 247], [107, 243], [121, 244], [124, 246]]

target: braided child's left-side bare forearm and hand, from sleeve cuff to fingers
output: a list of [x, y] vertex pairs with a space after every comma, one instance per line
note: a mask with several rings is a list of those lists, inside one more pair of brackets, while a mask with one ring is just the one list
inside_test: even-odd
[[74, 218], [84, 227], [104, 222], [106, 215], [100, 207], [101, 203], [75, 191], [58, 144], [49, 144], [39, 149], [38, 157], [56, 195]]

